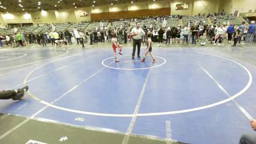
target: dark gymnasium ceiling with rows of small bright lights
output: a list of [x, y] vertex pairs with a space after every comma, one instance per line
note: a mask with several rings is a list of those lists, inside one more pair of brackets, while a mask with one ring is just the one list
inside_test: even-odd
[[[138, 3], [153, 0], [0, 0], [0, 12], [36, 12], [40, 10], [61, 10], [88, 6], [102, 6], [111, 3]], [[38, 3], [40, 2], [40, 3]], [[58, 3], [59, 2], [59, 3]], [[19, 5], [20, 4], [20, 5]], [[40, 4], [40, 5], [39, 5]]]

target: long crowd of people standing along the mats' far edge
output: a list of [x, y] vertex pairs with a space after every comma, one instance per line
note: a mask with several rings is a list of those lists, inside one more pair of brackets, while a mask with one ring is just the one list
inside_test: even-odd
[[[221, 12], [223, 15], [224, 12]], [[136, 22], [143, 22], [143, 20], [151, 20], [153, 23], [150, 26], [145, 24], [141, 26], [145, 35], [141, 35], [141, 41], [143, 44], [147, 44], [147, 33], [152, 33], [152, 42], [158, 42], [159, 45], [170, 44], [197, 44], [206, 45], [225, 45], [225, 43], [231, 43], [234, 41], [233, 46], [241, 44], [252, 44], [256, 41], [255, 35], [255, 21], [250, 22], [250, 26], [246, 27], [245, 23], [242, 22], [240, 25], [234, 25], [233, 22], [225, 22], [223, 24], [207, 24], [202, 20], [190, 20], [184, 26], [166, 26], [166, 20], [168, 18], [173, 20], [179, 19], [179, 16], [164, 16], [164, 17], [143, 17], [133, 22], [133, 26], [124, 24], [124, 26], [115, 28], [106, 28], [105, 26], [84, 30], [74, 28], [73, 31], [65, 29], [65, 31], [58, 31], [58, 29], [52, 29], [49, 33], [43, 31], [35, 33], [22, 33], [17, 31], [10, 35], [1, 35], [0, 40], [5, 42], [6, 45], [26, 46], [30, 44], [38, 44], [46, 46], [47, 44], [58, 45], [55, 43], [56, 40], [62, 40], [67, 42], [68, 45], [72, 44], [76, 40], [77, 44], [81, 44], [84, 47], [85, 43], [90, 45], [97, 44], [98, 42], [111, 42], [111, 38], [115, 33], [119, 44], [127, 44], [134, 40], [131, 35], [132, 28], [136, 26]], [[200, 15], [202, 16], [202, 14]], [[163, 25], [159, 25], [159, 22]], [[165, 23], [165, 24], [164, 24]], [[83, 31], [84, 30], [84, 31]], [[207, 42], [209, 41], [209, 42]], [[1, 45], [1, 43], [0, 43]]]

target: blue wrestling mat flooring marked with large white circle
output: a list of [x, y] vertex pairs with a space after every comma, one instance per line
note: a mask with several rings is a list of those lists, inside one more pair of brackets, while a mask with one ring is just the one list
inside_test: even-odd
[[[178, 48], [154, 49], [157, 62], [152, 63], [152, 58], [147, 56], [141, 63], [141, 58], [131, 59], [131, 50], [123, 50], [124, 56], [118, 56], [119, 63], [114, 62], [113, 51], [106, 48], [71, 50], [67, 54], [65, 50], [54, 49], [1, 51], [1, 88], [20, 88], [27, 78], [29, 92], [38, 100], [29, 94], [21, 101], [0, 100], [0, 113], [125, 133], [134, 109], [139, 108], [138, 114], [146, 116], [137, 116], [132, 134], [166, 138], [167, 120], [171, 122], [173, 139], [196, 144], [235, 144], [241, 134], [253, 132], [248, 118], [232, 100], [198, 111], [154, 115], [228, 99], [220, 85], [230, 96], [236, 95], [250, 80], [247, 68], [252, 74], [252, 85], [236, 101], [255, 117], [256, 68], [253, 65], [209, 49]], [[17, 58], [22, 54], [27, 55]], [[243, 56], [253, 58], [248, 53]], [[15, 65], [25, 66], [7, 68]], [[138, 103], [140, 95], [143, 97]]]

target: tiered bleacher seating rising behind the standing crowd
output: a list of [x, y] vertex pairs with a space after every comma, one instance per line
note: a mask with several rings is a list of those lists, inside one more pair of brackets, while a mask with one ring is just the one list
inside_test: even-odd
[[[150, 28], [152, 26], [153, 28], [162, 28], [163, 27], [163, 19], [166, 19], [167, 24], [166, 28], [168, 27], [177, 27], [179, 25], [179, 18], [175, 16], [166, 16], [166, 17], [145, 17], [144, 19], [134, 19], [131, 20], [116, 20], [111, 22], [102, 22], [104, 24], [104, 27], [109, 28], [132, 28], [134, 27], [134, 22], [140, 22], [141, 27], [144, 25], [147, 26], [147, 28]], [[228, 23], [228, 22], [233, 22], [235, 25], [240, 25], [241, 20], [238, 19], [236, 16], [233, 15], [220, 15], [220, 16], [211, 16], [212, 22], [214, 24], [223, 24], [223, 23]], [[208, 19], [207, 17], [198, 17], [198, 16], [193, 16], [193, 17], [182, 17], [182, 21], [184, 25], [188, 24], [188, 22], [196, 22], [196, 24], [208, 24]], [[133, 25], [131, 26], [133, 22]], [[69, 31], [73, 31], [74, 28], [76, 29], [81, 29], [82, 31], [92, 31], [95, 30], [96, 28], [100, 29], [100, 22], [92, 22], [92, 23], [86, 23], [86, 22], [79, 22], [79, 23], [65, 23], [65, 24], [56, 24], [55, 29], [56, 31], [65, 31], [68, 29]], [[52, 24], [44, 24], [40, 26], [24, 26], [22, 28], [18, 28], [19, 31], [22, 31], [24, 33], [49, 33], [52, 31]], [[130, 30], [130, 29], [129, 29]], [[13, 29], [8, 29], [8, 28], [0, 28], [0, 34], [10, 34], [14, 33]]]

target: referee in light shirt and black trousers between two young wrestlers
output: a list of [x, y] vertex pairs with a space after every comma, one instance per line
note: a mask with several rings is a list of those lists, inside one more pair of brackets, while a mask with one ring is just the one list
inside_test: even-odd
[[136, 45], [138, 45], [138, 58], [140, 58], [140, 45], [141, 45], [141, 37], [145, 35], [143, 29], [140, 28], [140, 22], [136, 22], [136, 27], [132, 28], [132, 41], [133, 41], [133, 49], [132, 49], [132, 59], [134, 59]]

